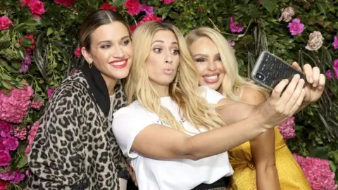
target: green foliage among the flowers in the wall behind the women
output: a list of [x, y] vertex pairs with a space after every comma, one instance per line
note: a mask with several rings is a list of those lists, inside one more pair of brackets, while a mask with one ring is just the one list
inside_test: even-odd
[[[144, 18], [144, 13], [131, 17], [123, 6], [124, 0], [110, 0], [108, 3], [118, 6], [130, 25], [135, 25]], [[144, 0], [146, 5], [154, 6], [157, 16], [165, 22], [173, 23], [182, 34], [199, 26], [213, 27], [228, 39], [235, 42], [237, 61], [240, 72], [249, 76], [259, 53], [268, 50], [291, 63], [317, 65], [322, 72], [332, 70], [332, 61], [338, 58], [332, 42], [338, 29], [337, 0], [176, 0], [173, 4], [163, 4], [158, 0]], [[78, 68], [81, 61], [73, 52], [79, 45], [78, 29], [84, 16], [103, 4], [103, 0], [77, 1], [70, 7], [59, 6], [53, 1], [44, 1], [46, 12], [42, 19], [33, 18], [29, 8], [21, 7], [20, 1], [5, 0], [0, 6], [0, 14], [13, 21], [10, 30], [0, 31], [0, 89], [21, 88], [28, 82], [35, 90], [35, 95], [46, 100], [46, 90], [56, 88], [68, 76], [68, 72]], [[278, 21], [281, 9], [292, 6], [293, 18], [300, 18], [305, 25], [303, 33], [292, 36], [288, 23]], [[230, 32], [230, 17], [237, 24], [244, 26], [239, 34]], [[320, 31], [324, 43], [318, 51], [305, 49], [308, 36], [313, 31]], [[25, 47], [30, 46], [26, 34], [34, 34], [36, 47], [34, 60], [27, 74], [18, 69], [20, 60], [25, 58]], [[18, 39], [23, 39], [18, 44]], [[333, 71], [333, 70], [332, 70]], [[330, 166], [338, 177], [338, 84], [337, 80], [327, 80], [327, 90], [323, 98], [296, 115], [296, 137], [288, 140], [292, 152], [302, 156], [314, 156], [330, 160]], [[21, 125], [32, 125], [40, 113], [30, 110]], [[23, 148], [22, 148], [23, 146]], [[27, 168], [25, 144], [20, 142], [17, 156], [13, 160], [14, 168]], [[17, 187], [17, 186], [15, 186]]]

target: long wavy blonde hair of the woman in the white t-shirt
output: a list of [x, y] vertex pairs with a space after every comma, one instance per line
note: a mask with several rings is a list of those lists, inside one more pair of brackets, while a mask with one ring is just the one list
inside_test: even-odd
[[171, 31], [175, 34], [180, 48], [180, 65], [175, 80], [170, 83], [170, 97], [180, 108], [182, 118], [191, 122], [199, 131], [222, 127], [224, 124], [218, 113], [212, 108], [215, 106], [201, 97], [198, 87], [198, 75], [187, 44], [180, 30], [174, 25], [159, 22], [146, 22], [132, 34], [133, 60], [130, 75], [127, 77], [125, 91], [128, 103], [139, 101], [147, 110], [156, 113], [171, 127], [186, 131], [173, 117], [173, 114], [161, 106], [156, 90], [151, 86], [146, 70], [146, 58], [149, 56], [154, 34], [160, 30]]

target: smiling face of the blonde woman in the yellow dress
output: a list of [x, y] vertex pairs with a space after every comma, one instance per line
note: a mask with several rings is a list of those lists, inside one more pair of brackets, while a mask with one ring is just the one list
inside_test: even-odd
[[220, 89], [225, 69], [215, 43], [208, 37], [199, 37], [189, 46], [189, 51], [199, 73], [199, 85]]

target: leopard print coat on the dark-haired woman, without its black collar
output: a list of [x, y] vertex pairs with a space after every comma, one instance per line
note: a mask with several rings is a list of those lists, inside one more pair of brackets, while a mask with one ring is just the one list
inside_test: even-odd
[[[88, 89], [78, 72], [54, 91], [28, 156], [27, 189], [120, 189], [125, 158], [109, 123], [113, 118], [104, 116]], [[115, 112], [125, 104], [118, 82], [111, 108]]]

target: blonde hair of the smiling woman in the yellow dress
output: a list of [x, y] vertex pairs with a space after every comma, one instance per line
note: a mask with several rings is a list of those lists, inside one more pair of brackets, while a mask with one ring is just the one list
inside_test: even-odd
[[211, 39], [220, 52], [220, 58], [226, 71], [226, 75], [221, 84], [222, 92], [225, 96], [235, 101], [240, 101], [241, 88], [249, 87], [261, 91], [261, 93], [268, 98], [268, 89], [260, 87], [254, 84], [251, 80], [246, 80], [244, 77], [239, 75], [238, 64], [236, 56], [234, 56], [234, 51], [227, 42], [227, 39], [225, 39], [220, 32], [213, 30], [211, 27], [199, 27], [190, 31], [185, 36], [187, 45], [191, 46], [196, 39], [199, 39], [199, 37], [208, 37]]

